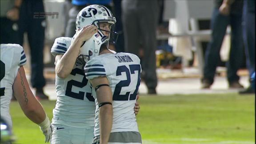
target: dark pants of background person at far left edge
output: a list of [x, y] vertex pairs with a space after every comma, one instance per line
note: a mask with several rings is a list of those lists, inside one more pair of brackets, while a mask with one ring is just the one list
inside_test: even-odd
[[9, 20], [6, 17], [1, 17], [0, 20], [0, 44], [18, 44], [18, 23], [16, 21]]

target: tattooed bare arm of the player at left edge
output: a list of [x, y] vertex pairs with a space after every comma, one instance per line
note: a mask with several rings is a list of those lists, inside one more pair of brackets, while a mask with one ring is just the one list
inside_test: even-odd
[[12, 89], [24, 114], [34, 123], [41, 124], [47, 116], [29, 88], [23, 67], [19, 68]]

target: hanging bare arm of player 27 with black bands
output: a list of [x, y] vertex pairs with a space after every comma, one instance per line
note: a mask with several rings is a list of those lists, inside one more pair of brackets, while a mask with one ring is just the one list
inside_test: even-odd
[[[107, 77], [97, 77], [91, 80], [93, 88], [100, 84], [109, 84]], [[96, 90], [98, 104], [104, 102], [112, 103], [112, 91], [108, 86], [102, 86]], [[112, 129], [113, 108], [111, 104], [100, 107], [100, 144], [108, 144], [109, 135]]]

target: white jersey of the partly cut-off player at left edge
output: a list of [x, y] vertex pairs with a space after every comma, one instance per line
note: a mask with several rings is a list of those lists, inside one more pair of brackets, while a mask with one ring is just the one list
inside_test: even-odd
[[12, 85], [20, 66], [26, 64], [26, 55], [19, 44], [1, 44], [1, 82], [0, 103], [1, 117], [12, 127], [9, 105], [12, 99]]

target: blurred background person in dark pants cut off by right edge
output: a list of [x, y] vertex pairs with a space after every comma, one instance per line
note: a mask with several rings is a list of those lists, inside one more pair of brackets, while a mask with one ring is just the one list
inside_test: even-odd
[[[255, 72], [255, 0], [244, 0], [243, 38], [246, 64], [249, 76], [252, 76], [253, 72]], [[252, 81], [250, 81], [249, 87], [239, 93], [248, 94], [254, 92], [255, 88], [252, 86]]]

